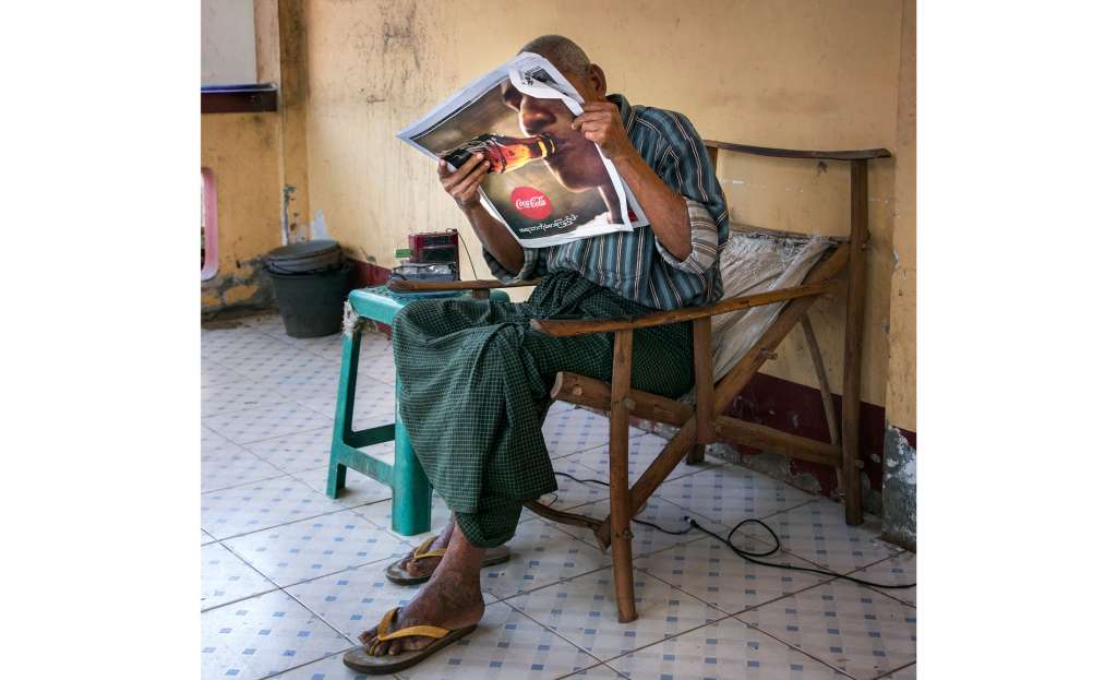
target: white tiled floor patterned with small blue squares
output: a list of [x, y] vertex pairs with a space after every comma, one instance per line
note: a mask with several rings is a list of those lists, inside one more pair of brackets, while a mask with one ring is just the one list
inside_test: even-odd
[[[392, 414], [390, 344], [366, 334], [357, 418]], [[384, 566], [426, 536], [389, 528], [391, 490], [355, 472], [337, 500], [323, 493], [340, 369], [340, 336], [296, 340], [276, 315], [202, 331], [202, 677], [356, 678], [341, 661], [357, 633], [413, 591]], [[556, 471], [608, 478], [608, 423], [556, 404], [544, 426]], [[638, 474], [665, 441], [631, 429]], [[380, 445], [390, 455], [390, 445]], [[557, 508], [602, 517], [608, 494], [560, 478]], [[436, 498], [435, 521], [448, 517]], [[915, 555], [847, 527], [841, 508], [712, 460], [677, 469], [641, 519], [725, 536], [765, 518], [783, 550], [766, 558], [877, 583], [910, 583]], [[399, 678], [915, 678], [915, 589], [873, 589], [739, 559], [691, 531], [633, 527], [640, 618], [618, 624], [610, 555], [582, 530], [529, 512], [513, 560], [481, 574], [478, 630]], [[754, 527], [735, 538], [771, 547]]]

